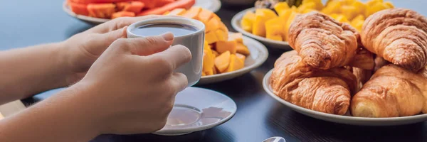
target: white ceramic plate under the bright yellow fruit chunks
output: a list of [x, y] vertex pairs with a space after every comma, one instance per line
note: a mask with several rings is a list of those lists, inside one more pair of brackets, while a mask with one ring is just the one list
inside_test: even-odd
[[254, 11], [255, 12], [255, 8], [246, 9], [244, 11], [241, 11], [241, 12], [237, 13], [233, 17], [233, 19], [231, 19], [231, 26], [233, 26], [233, 28], [236, 31], [238, 31], [239, 33], [243, 33], [243, 35], [246, 35], [248, 37], [254, 38], [254, 39], [260, 41], [261, 43], [263, 43], [264, 45], [267, 45], [268, 47], [279, 48], [279, 49], [284, 49], [284, 50], [292, 50], [292, 48], [290, 48], [288, 42], [270, 40], [268, 38], [264, 38], [264, 37], [258, 36], [258, 35], [253, 35], [252, 33], [244, 31], [243, 28], [241, 27], [241, 20], [242, 20], [243, 16], [245, 15], [246, 11]]

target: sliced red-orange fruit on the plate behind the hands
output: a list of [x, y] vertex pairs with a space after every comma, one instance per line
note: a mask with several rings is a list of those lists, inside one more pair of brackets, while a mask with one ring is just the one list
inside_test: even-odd
[[95, 18], [118, 18], [163, 14], [174, 9], [190, 9], [195, 0], [67, 0], [75, 14]]

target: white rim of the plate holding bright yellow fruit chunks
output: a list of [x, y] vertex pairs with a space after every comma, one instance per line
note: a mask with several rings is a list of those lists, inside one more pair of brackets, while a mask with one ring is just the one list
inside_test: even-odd
[[289, 46], [289, 43], [287, 41], [276, 41], [276, 40], [270, 40], [268, 38], [264, 38], [258, 35], [253, 35], [252, 33], [249, 33], [247, 31], [244, 31], [243, 28], [241, 28], [241, 26], [239, 26], [238, 23], [240, 23], [241, 19], [243, 18], [243, 16], [245, 15], [246, 11], [254, 11], [255, 7], [249, 8], [249, 9], [245, 9], [243, 11], [240, 11], [238, 13], [236, 13], [236, 15], [233, 16], [233, 18], [231, 18], [231, 26], [234, 28], [234, 30], [243, 33], [244, 35], [251, 37], [251, 38], [255, 38], [256, 40], [260, 40], [263, 41], [265, 43], [273, 43], [276, 45], [285, 45], [285, 46]]

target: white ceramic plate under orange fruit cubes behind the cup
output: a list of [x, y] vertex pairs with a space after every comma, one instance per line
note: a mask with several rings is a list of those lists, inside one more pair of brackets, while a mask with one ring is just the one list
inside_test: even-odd
[[234, 77], [238, 77], [247, 72], [251, 72], [251, 70], [255, 69], [256, 67], [259, 67], [265, 62], [265, 60], [267, 60], [268, 50], [260, 42], [243, 35], [243, 44], [248, 46], [248, 49], [251, 52], [251, 55], [248, 55], [248, 57], [246, 57], [245, 67], [243, 67], [240, 70], [235, 70], [233, 72], [226, 72], [226, 73], [201, 77], [201, 79], [197, 84], [210, 84], [210, 83], [222, 82], [224, 80], [233, 79]]

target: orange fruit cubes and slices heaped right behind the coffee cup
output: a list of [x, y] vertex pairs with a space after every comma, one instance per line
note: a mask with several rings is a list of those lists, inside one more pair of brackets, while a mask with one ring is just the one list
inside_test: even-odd
[[228, 33], [228, 28], [214, 12], [194, 6], [191, 9], [174, 9], [164, 15], [194, 18], [205, 24], [205, 45], [202, 76], [240, 70], [250, 51], [243, 44], [241, 33]]

